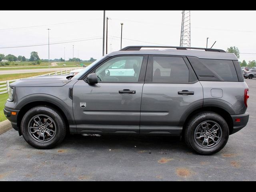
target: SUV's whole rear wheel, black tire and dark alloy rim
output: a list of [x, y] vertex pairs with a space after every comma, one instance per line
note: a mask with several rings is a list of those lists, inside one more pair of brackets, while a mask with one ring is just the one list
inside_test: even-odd
[[[207, 132], [203, 129], [206, 127], [208, 127]], [[196, 134], [199, 132], [200, 134]], [[190, 118], [184, 132], [186, 144], [202, 155], [211, 155], [222, 150], [228, 142], [228, 136], [228, 124], [224, 118], [215, 112], [208, 111], [200, 112]]]

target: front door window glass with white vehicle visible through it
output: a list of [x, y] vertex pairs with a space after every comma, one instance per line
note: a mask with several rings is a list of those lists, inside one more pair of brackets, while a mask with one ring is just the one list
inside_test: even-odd
[[120, 56], [99, 66], [99, 82], [138, 82], [143, 56]]

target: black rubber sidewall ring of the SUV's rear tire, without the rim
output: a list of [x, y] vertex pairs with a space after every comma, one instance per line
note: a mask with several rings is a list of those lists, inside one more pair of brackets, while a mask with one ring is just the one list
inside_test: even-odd
[[[222, 137], [220, 139], [220, 142], [216, 146], [209, 148], [209, 149], [200, 147], [194, 139], [194, 132], [195, 132], [197, 126], [206, 120], [211, 120], [211, 121], [216, 122], [222, 129]], [[214, 154], [214, 153], [220, 151], [226, 145], [226, 143], [228, 141], [228, 136], [229, 136], [228, 124], [218, 114], [213, 114], [213, 113], [201, 114], [201, 115], [196, 116], [190, 122], [190, 124], [188, 125], [188, 128], [187, 128], [186, 136], [188, 139], [188, 143], [190, 144], [190, 147], [193, 148], [197, 153], [205, 154], [205, 155]]]

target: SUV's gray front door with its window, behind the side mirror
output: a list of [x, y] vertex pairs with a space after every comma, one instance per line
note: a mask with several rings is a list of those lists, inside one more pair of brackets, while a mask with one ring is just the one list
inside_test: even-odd
[[98, 84], [78, 80], [73, 87], [77, 132], [138, 133], [147, 56], [115, 56], [91, 73]]

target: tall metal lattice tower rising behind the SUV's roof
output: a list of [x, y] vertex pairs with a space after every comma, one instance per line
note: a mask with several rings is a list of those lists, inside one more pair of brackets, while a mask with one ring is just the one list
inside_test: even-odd
[[182, 11], [180, 47], [190, 47], [190, 11]]

